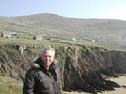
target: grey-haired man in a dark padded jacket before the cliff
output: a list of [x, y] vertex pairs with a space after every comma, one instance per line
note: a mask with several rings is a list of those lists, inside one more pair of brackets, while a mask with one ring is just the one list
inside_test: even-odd
[[62, 94], [59, 67], [54, 58], [53, 48], [43, 49], [25, 75], [23, 94]]

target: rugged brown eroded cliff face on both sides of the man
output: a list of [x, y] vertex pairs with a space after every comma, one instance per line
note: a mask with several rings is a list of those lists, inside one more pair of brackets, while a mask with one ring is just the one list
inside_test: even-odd
[[[39, 48], [28, 46], [21, 53], [17, 48], [0, 48], [0, 75], [23, 80], [30, 63], [39, 56]], [[105, 78], [126, 73], [126, 52], [108, 51], [99, 47], [55, 47], [62, 71], [64, 90], [83, 90], [96, 93], [118, 87]]]

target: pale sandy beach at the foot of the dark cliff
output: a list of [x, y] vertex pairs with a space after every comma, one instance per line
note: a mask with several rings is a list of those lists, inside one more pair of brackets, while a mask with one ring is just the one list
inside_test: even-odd
[[[109, 78], [111, 81], [117, 82], [121, 88], [115, 88], [114, 91], [104, 91], [98, 94], [126, 94], [126, 76], [119, 76], [118, 78]], [[123, 87], [125, 86], [125, 87]], [[91, 94], [86, 92], [64, 92], [64, 94]]]

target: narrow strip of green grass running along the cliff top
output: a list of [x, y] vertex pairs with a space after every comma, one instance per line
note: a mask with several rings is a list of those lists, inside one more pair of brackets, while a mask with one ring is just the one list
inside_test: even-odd
[[91, 42], [91, 41], [72, 41], [72, 40], [61, 40], [61, 39], [51, 39], [51, 40], [33, 40], [26, 38], [2, 38], [0, 37], [0, 45], [53, 45], [53, 46], [94, 46], [102, 47], [108, 50], [120, 50], [126, 51], [125, 47], [118, 47], [115, 44], [102, 43], [102, 42]]

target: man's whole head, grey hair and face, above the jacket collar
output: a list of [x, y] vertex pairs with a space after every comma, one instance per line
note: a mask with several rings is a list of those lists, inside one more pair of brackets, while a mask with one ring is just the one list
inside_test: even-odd
[[42, 50], [41, 59], [44, 62], [46, 69], [52, 64], [55, 58], [55, 50], [51, 47], [46, 47]]

